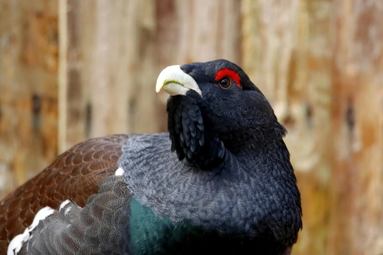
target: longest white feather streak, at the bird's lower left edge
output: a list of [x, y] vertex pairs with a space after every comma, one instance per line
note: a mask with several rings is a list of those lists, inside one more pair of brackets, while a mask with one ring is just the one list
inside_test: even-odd
[[39, 225], [40, 220], [44, 220], [47, 216], [52, 214], [54, 210], [50, 207], [44, 207], [43, 209], [40, 209], [39, 212], [36, 213], [32, 224], [25, 229], [23, 234], [18, 234], [15, 237], [13, 237], [12, 241], [8, 245], [8, 251], [7, 255], [16, 255], [18, 252], [20, 252], [23, 242], [28, 241], [29, 239], [29, 233], [32, 232], [37, 225]]

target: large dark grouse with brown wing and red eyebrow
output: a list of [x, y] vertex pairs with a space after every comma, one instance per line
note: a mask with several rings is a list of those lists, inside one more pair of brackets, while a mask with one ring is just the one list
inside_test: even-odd
[[290, 255], [302, 229], [287, 131], [244, 70], [158, 75], [168, 132], [82, 142], [0, 201], [0, 253]]

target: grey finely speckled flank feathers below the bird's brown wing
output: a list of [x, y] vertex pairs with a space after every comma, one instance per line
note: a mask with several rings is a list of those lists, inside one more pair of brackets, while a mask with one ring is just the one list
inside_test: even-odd
[[60, 211], [48, 208], [50, 214], [12, 241], [11, 250], [25, 240], [18, 255], [127, 254], [130, 199], [123, 177], [110, 176], [84, 208], [70, 202]]

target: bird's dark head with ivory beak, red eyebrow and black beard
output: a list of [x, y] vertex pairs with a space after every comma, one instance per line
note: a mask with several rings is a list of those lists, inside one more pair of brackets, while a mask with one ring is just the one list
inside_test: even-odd
[[262, 92], [229, 61], [166, 67], [156, 90], [170, 95], [172, 150], [192, 165], [211, 167], [228, 151], [261, 149], [285, 134]]

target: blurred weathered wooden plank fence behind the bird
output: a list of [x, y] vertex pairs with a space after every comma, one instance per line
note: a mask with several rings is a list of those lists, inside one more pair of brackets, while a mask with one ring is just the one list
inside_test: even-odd
[[87, 138], [165, 131], [160, 70], [217, 58], [288, 128], [293, 254], [383, 254], [382, 0], [0, 0], [0, 197]]

